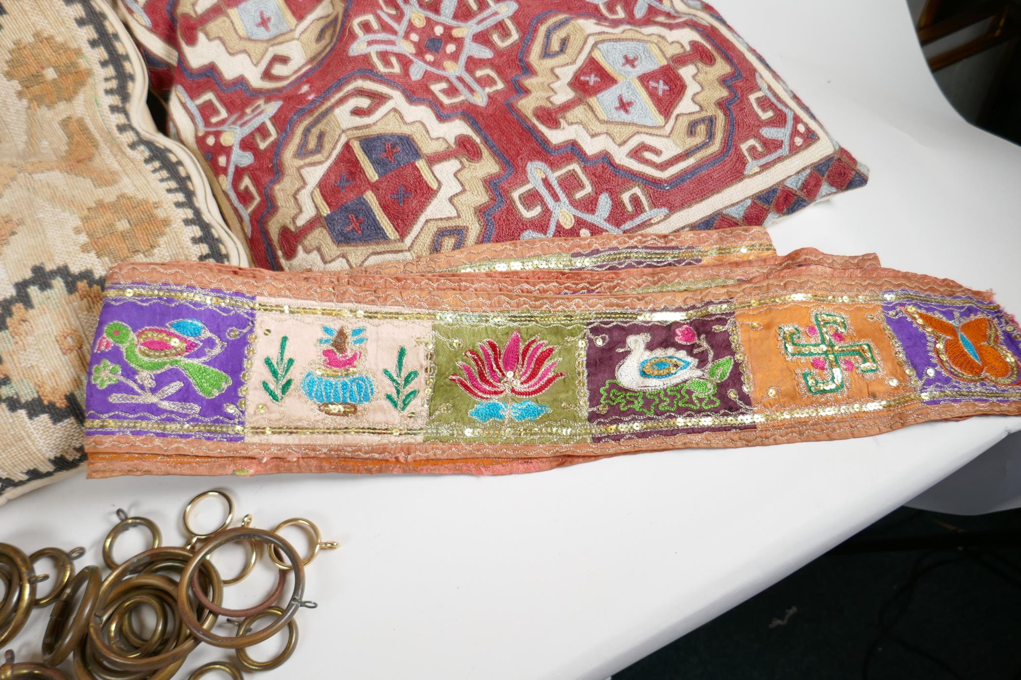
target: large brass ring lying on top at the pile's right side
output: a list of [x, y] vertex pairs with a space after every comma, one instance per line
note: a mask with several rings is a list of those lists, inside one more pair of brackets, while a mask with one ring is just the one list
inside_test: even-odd
[[[204, 563], [207, 555], [221, 545], [226, 545], [227, 543], [232, 543], [237, 540], [245, 540], [248, 538], [269, 542], [280, 547], [280, 550], [283, 551], [284, 555], [294, 566], [294, 587], [291, 592], [291, 596], [288, 597], [287, 608], [283, 610], [283, 613], [279, 617], [277, 617], [276, 621], [254, 633], [241, 637], [228, 637], [212, 633], [207, 628], [199, 625], [198, 620], [195, 618], [195, 613], [187, 607], [188, 597], [192, 590], [192, 572]], [[188, 630], [191, 631], [195, 639], [216, 647], [230, 647], [236, 649], [238, 647], [247, 647], [253, 644], [258, 644], [262, 640], [270, 639], [277, 633], [277, 631], [286, 626], [287, 622], [294, 618], [298, 608], [308, 606], [307, 603], [304, 603], [301, 599], [301, 596], [304, 594], [304, 590], [305, 571], [301, 566], [301, 556], [298, 555], [298, 552], [294, 550], [293, 545], [287, 542], [284, 538], [278, 536], [276, 533], [266, 531], [265, 529], [237, 527], [235, 529], [228, 529], [227, 531], [216, 534], [210, 538], [208, 542], [202, 545], [202, 547], [200, 547], [194, 556], [192, 556], [192, 559], [188, 562], [188, 566], [185, 567], [184, 572], [181, 574], [181, 580], [178, 582], [178, 609], [181, 612], [182, 621], [185, 626], [188, 627]], [[218, 604], [218, 600], [214, 601]]]

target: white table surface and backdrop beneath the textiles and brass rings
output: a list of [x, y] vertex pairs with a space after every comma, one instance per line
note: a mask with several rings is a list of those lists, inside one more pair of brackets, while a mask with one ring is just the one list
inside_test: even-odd
[[[957, 116], [905, 4], [717, 7], [872, 169], [865, 189], [777, 224], [777, 250], [875, 251], [886, 266], [993, 289], [1021, 312], [1021, 149]], [[29, 551], [85, 544], [83, 563], [96, 564], [115, 508], [156, 520], [174, 543], [188, 499], [221, 486], [256, 525], [304, 516], [344, 543], [309, 567], [306, 596], [320, 608], [299, 614], [299, 648], [268, 680], [601, 680], [1019, 429], [1021, 418], [973, 418], [488, 478], [78, 475], [0, 508], [0, 540]], [[141, 547], [141, 537], [125, 543]], [[232, 592], [229, 604], [254, 603], [266, 579], [253, 577], [247, 599]], [[13, 645], [21, 659], [37, 658], [47, 616], [37, 613]], [[205, 647], [185, 668], [222, 658]]]

